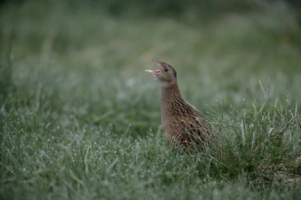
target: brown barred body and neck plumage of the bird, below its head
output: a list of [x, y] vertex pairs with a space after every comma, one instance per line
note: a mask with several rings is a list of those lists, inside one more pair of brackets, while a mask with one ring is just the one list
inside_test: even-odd
[[177, 81], [161, 87], [161, 119], [174, 146], [202, 146], [212, 137], [209, 122], [183, 99]]

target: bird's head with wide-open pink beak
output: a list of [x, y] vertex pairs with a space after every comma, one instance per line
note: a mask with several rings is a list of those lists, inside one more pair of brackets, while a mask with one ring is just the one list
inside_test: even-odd
[[160, 85], [168, 85], [170, 83], [177, 81], [177, 72], [166, 62], [160, 62], [158, 60], [152, 59], [158, 66], [160, 66], [159, 70], [145, 70], [147, 72], [150, 72], [155, 77], [155, 80], [159, 82]]

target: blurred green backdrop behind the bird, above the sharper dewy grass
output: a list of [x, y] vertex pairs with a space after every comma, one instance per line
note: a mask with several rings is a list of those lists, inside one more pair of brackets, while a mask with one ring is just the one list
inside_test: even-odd
[[261, 91], [259, 80], [267, 90], [268, 79], [275, 96], [288, 91], [300, 105], [301, 31], [292, 5], [6, 1], [2, 90], [13, 85], [21, 100], [42, 85], [60, 111], [84, 113], [87, 121], [108, 113], [102, 120], [152, 126], [160, 123], [159, 87], [144, 70], [158, 68], [154, 58], [175, 67], [183, 96], [201, 111], [218, 109], [222, 100], [239, 107], [250, 88]]

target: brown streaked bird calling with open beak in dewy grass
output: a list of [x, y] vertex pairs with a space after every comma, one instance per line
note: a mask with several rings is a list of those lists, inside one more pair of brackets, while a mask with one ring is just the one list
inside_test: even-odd
[[152, 59], [159, 70], [150, 72], [159, 82], [161, 90], [162, 129], [172, 146], [202, 149], [212, 138], [210, 123], [179, 90], [177, 72], [170, 64]]

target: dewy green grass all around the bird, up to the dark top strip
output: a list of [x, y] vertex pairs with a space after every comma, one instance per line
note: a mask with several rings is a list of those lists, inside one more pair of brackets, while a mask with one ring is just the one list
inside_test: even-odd
[[[99, 10], [2, 7], [1, 199], [300, 196], [301, 31], [289, 10], [210, 23]], [[151, 58], [176, 68], [217, 144], [170, 148]]]

